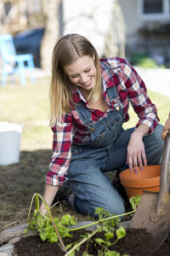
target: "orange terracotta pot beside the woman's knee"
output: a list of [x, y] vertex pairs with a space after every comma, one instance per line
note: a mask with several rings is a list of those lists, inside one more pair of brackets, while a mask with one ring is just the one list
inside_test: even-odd
[[143, 172], [138, 174], [129, 172], [129, 169], [122, 171], [119, 175], [128, 198], [133, 195], [143, 195], [143, 190], [159, 192], [161, 166], [144, 166]]

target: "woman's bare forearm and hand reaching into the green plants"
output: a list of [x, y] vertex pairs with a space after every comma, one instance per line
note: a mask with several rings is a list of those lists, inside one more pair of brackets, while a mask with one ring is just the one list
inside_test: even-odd
[[[47, 202], [48, 207], [50, 207], [52, 202], [54, 201], [54, 197], [57, 194], [58, 190], [59, 190], [58, 186], [53, 186], [46, 183], [43, 197]], [[43, 203], [40, 207], [40, 211], [42, 212], [42, 214], [45, 214], [47, 212]]]

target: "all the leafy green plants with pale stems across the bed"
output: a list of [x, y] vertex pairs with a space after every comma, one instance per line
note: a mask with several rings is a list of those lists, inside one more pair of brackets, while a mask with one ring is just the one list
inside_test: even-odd
[[[48, 214], [44, 216], [39, 210], [39, 199], [43, 202], [44, 206], [46, 207]], [[31, 218], [31, 207], [32, 203], [35, 200], [36, 209], [34, 210], [33, 217]], [[60, 247], [65, 251], [65, 256], [74, 256], [75, 251], [78, 251], [84, 242], [87, 242], [86, 251], [83, 253], [82, 256], [90, 256], [88, 254], [88, 244], [92, 242], [92, 237], [99, 233], [105, 232], [105, 240], [101, 238], [94, 239], [95, 244], [100, 246], [99, 249], [99, 256], [119, 256], [119, 253], [111, 251], [109, 247], [114, 245], [118, 240], [122, 239], [126, 236], [126, 230], [119, 226], [121, 217], [127, 214], [133, 214], [136, 211], [136, 207], [139, 204], [140, 196], [133, 196], [130, 199], [131, 206], [133, 211], [123, 213], [120, 215], [112, 215], [110, 216], [109, 212], [106, 212], [103, 208], [98, 207], [95, 211], [95, 215], [98, 217], [98, 221], [94, 222], [93, 224], [88, 224], [79, 228], [71, 228], [71, 225], [77, 224], [74, 216], [72, 217], [71, 214], [65, 214], [62, 218], [53, 218], [51, 213], [51, 208], [48, 207], [47, 202], [43, 199], [42, 195], [34, 194], [31, 200], [31, 206], [28, 212], [28, 219], [27, 219], [27, 227], [25, 233], [28, 230], [35, 230], [36, 233], [41, 237], [42, 241], [48, 240], [50, 242], [58, 242]], [[53, 206], [54, 207], [54, 206]], [[76, 241], [75, 243], [71, 243], [65, 247], [64, 241], [62, 238], [64, 237], [71, 237], [71, 231], [81, 230], [88, 228], [91, 225], [96, 226], [96, 229], [89, 234], [86, 232], [80, 241]], [[116, 234], [115, 241], [112, 241], [113, 237]], [[70, 249], [69, 252], [67, 250]], [[124, 254], [123, 256], [127, 256]]]

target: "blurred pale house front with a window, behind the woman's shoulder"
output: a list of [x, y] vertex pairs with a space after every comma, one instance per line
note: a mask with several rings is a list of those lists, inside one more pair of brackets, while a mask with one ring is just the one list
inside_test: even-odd
[[170, 67], [170, 0], [117, 0], [126, 24], [126, 55]]

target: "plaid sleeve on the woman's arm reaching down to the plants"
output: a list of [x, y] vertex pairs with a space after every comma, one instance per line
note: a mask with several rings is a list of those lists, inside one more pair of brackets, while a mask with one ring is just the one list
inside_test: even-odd
[[67, 169], [71, 160], [71, 126], [71, 118], [65, 118], [64, 121], [52, 127], [53, 155], [45, 180], [48, 184], [61, 186], [67, 179]]

